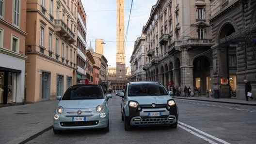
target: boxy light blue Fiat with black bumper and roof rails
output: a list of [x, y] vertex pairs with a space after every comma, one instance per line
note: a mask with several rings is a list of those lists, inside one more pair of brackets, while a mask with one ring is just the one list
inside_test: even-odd
[[172, 92], [158, 82], [130, 82], [120, 93], [125, 130], [132, 126], [169, 125], [177, 128], [178, 107]]

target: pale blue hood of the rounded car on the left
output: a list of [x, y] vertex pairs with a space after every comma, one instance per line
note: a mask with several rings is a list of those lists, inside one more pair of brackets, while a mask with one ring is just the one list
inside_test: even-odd
[[75, 109], [75, 108], [95, 108], [98, 105], [105, 105], [105, 99], [97, 100], [62, 100], [59, 102], [58, 106], [62, 106], [65, 109]]

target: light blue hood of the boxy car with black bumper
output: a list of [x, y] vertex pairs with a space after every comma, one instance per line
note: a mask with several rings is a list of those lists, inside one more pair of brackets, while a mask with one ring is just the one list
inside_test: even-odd
[[128, 101], [137, 101], [139, 104], [163, 104], [167, 103], [168, 100], [172, 99], [171, 96], [140, 96], [140, 97], [129, 97]]

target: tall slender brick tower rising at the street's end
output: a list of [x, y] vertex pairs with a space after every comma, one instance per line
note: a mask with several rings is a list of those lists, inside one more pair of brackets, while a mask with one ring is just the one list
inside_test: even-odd
[[116, 79], [121, 81], [126, 79], [125, 69], [125, 0], [117, 0], [116, 17]]

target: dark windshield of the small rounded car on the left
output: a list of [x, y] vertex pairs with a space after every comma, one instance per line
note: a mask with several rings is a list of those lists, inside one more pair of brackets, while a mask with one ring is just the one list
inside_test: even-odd
[[62, 100], [104, 99], [100, 86], [74, 86], [67, 89]]

